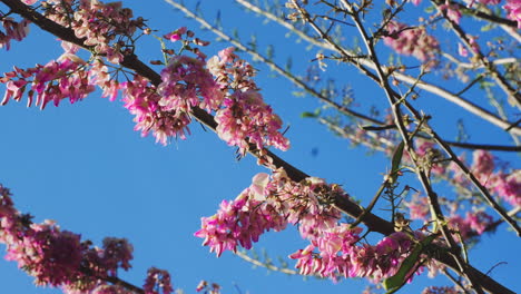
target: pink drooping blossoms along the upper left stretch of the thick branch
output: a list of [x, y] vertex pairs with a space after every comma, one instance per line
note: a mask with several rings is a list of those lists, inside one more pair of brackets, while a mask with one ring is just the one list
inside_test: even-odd
[[[147, 33], [142, 18], [132, 19], [132, 11], [122, 8], [120, 2], [52, 0], [41, 7], [47, 18], [72, 29], [76, 37], [83, 39], [83, 45], [92, 49], [94, 58], [82, 60], [76, 55], [77, 46], [63, 42], [66, 52], [58, 60], [27, 70], [16, 68], [0, 79], [7, 85], [3, 104], [11, 98], [20, 100], [29, 85], [28, 105], [36, 95], [36, 105], [41, 108], [49, 101], [58, 106], [65, 98], [71, 102], [81, 100], [98, 86], [102, 96], [110, 100], [122, 90], [125, 107], [135, 115], [136, 130], [142, 136], [151, 131], [156, 141], [164, 145], [169, 138], [184, 139], [189, 134], [190, 111], [198, 107], [216, 114], [218, 135], [229, 145], [237, 146], [242, 154], [250, 148], [250, 144], [258, 149], [274, 146], [285, 150], [289, 147], [281, 134], [282, 120], [263, 101], [252, 80], [255, 70], [240, 60], [233, 48], [223, 50], [219, 57], [206, 63], [206, 56], [197, 47], [208, 42], [198, 38], [190, 40], [194, 33], [180, 28], [165, 38], [178, 41], [186, 36], [183, 46], [193, 45], [186, 46], [186, 50], [197, 58], [165, 50], [170, 58], [161, 71], [159, 85], [153, 85], [139, 75], [134, 75], [130, 80], [126, 75], [127, 81], [119, 82], [117, 76], [109, 74], [102, 58], [119, 63], [126, 55], [131, 55], [135, 32], [141, 29]], [[2, 20], [11, 23], [9, 18]], [[12, 29], [9, 33], [21, 35]], [[114, 72], [118, 75], [120, 70], [116, 68]]]

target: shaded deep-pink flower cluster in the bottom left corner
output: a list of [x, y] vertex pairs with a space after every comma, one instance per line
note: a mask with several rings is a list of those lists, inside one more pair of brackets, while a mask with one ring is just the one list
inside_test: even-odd
[[[129, 270], [132, 246], [125, 238], [108, 237], [102, 248], [92, 247], [80, 235], [61, 231], [51, 220], [42, 224], [31, 222], [13, 207], [9, 189], [0, 185], [0, 243], [7, 247], [6, 259], [35, 276], [36, 284], [62, 287], [65, 293], [131, 293], [121, 286], [107, 284], [106, 277], [117, 276], [117, 271]], [[173, 292], [169, 275], [153, 268], [145, 288], [147, 294], [158, 294], [154, 285], [163, 287], [164, 294]], [[150, 288], [148, 291], [148, 288]]]

